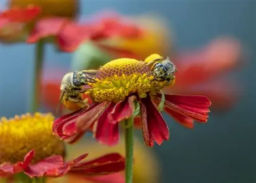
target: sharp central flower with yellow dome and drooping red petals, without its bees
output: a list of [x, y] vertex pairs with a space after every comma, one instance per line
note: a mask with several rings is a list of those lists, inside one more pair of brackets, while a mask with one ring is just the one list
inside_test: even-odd
[[[157, 54], [148, 58], [153, 56], [161, 58]], [[154, 141], [160, 145], [163, 140], [169, 139], [167, 124], [159, 112], [162, 106], [185, 126], [193, 125], [194, 120], [207, 121], [211, 104], [207, 97], [163, 96], [159, 90], [167, 82], [154, 80], [154, 76], [148, 74], [150, 72], [146, 64], [135, 59], [116, 59], [103, 65], [95, 76], [96, 83], [89, 83], [91, 88], [86, 92], [90, 94], [93, 104], [88, 109], [56, 119], [54, 133], [73, 143], [93, 129], [94, 137], [99, 142], [112, 146], [119, 140], [118, 123], [140, 114], [145, 144], [153, 147]]]

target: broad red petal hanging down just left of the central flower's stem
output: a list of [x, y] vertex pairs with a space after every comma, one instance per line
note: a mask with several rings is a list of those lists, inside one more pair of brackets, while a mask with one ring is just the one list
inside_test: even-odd
[[108, 118], [108, 114], [113, 111], [115, 103], [110, 102], [108, 107], [101, 113], [98, 118], [95, 138], [106, 145], [113, 146], [119, 141], [118, 123], [113, 124]]

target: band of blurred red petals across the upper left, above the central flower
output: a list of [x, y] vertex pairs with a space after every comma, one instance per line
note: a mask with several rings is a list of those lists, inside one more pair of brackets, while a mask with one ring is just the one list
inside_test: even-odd
[[87, 40], [100, 41], [111, 37], [135, 38], [141, 30], [119, 17], [105, 17], [93, 23], [78, 23], [67, 18], [50, 17], [38, 20], [28, 43], [53, 36], [60, 50], [72, 52]]

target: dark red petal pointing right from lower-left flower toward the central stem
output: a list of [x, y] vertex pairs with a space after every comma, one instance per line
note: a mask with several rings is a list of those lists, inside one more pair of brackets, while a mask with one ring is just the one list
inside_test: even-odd
[[72, 172], [89, 174], [109, 174], [123, 171], [125, 159], [118, 153], [101, 156], [95, 160], [75, 165]]

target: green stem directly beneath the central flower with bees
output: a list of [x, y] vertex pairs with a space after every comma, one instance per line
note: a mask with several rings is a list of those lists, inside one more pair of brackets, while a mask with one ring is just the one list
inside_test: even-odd
[[125, 125], [125, 183], [133, 182], [133, 118], [124, 121]]

